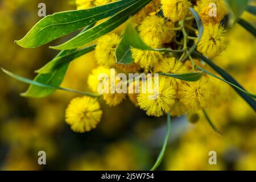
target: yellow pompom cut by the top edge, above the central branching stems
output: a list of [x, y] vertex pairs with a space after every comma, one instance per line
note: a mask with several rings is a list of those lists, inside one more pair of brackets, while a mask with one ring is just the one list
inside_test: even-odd
[[172, 22], [185, 19], [191, 3], [188, 0], [161, 0], [163, 14]]

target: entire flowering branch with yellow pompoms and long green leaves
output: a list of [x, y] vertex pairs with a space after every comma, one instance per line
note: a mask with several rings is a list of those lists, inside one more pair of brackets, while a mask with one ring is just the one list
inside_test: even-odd
[[[84, 133], [95, 129], [102, 111], [98, 99], [117, 106], [129, 97], [147, 115], [167, 115], [167, 134], [162, 150], [152, 169], [163, 159], [171, 129], [171, 116], [187, 115], [191, 122], [202, 111], [210, 126], [221, 134], [205, 109], [218, 100], [218, 85], [213, 79], [229, 84], [256, 111], [255, 94], [247, 92], [214, 59], [228, 47], [227, 30], [239, 23], [254, 36], [255, 28], [240, 16], [247, 9], [255, 15], [255, 7], [238, 0], [84, 0], [76, 1], [77, 10], [46, 16], [16, 43], [24, 48], [43, 46], [61, 36], [80, 30], [79, 35], [52, 49], [60, 53], [38, 69], [34, 80], [5, 69], [7, 75], [30, 84], [24, 97], [47, 97], [55, 90], [75, 92], [84, 97], [74, 98], [66, 110], [66, 122], [71, 129]], [[209, 3], [216, 3], [217, 16], [209, 16]], [[100, 22], [99, 22], [100, 21]], [[113, 30], [126, 23], [122, 34]], [[97, 44], [94, 44], [97, 40]], [[60, 87], [69, 64], [77, 57], [95, 50], [98, 67], [88, 78], [92, 93]], [[158, 73], [158, 95], [151, 93], [98, 93], [101, 73], [110, 75], [110, 68], [122, 73]], [[219, 76], [212, 72], [218, 73]], [[220, 77], [221, 76], [221, 77]], [[109, 82], [109, 80], [105, 80]], [[119, 80], [114, 80], [118, 82]], [[135, 84], [135, 81], [133, 81]], [[140, 82], [139, 85], [147, 83]], [[110, 88], [108, 88], [110, 89]], [[228, 97], [228, 96], [225, 96]]]

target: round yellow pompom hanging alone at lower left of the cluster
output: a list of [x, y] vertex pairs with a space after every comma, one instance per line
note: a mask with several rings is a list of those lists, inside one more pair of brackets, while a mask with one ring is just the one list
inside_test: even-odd
[[84, 133], [96, 128], [101, 115], [102, 110], [98, 101], [87, 96], [77, 97], [68, 105], [65, 120], [73, 131]]

